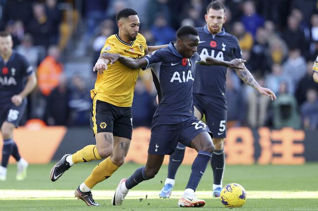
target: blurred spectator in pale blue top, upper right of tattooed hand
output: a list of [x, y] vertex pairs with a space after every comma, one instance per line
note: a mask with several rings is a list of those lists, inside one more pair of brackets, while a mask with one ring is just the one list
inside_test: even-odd
[[295, 92], [295, 87], [297, 87], [299, 80], [306, 74], [306, 61], [300, 54], [299, 49], [290, 49], [289, 57], [283, 63], [283, 74], [286, 77], [290, 77], [294, 84], [293, 92]]

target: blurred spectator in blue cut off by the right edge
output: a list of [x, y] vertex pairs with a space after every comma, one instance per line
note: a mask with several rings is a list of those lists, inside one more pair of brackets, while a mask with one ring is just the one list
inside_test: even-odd
[[317, 90], [309, 89], [307, 91], [307, 100], [300, 106], [302, 123], [305, 130], [318, 129], [318, 97]]

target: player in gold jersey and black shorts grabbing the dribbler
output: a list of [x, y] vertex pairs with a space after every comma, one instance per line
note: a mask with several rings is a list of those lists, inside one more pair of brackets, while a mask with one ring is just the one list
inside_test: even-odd
[[93, 70], [98, 71], [95, 87], [91, 90], [91, 128], [96, 145], [88, 145], [73, 154], [65, 154], [53, 166], [51, 180], [56, 181], [72, 165], [100, 160], [91, 175], [75, 190], [75, 196], [88, 206], [98, 206], [91, 189], [109, 178], [124, 163], [133, 132], [132, 103], [134, 88], [140, 69], [130, 69], [120, 62], [113, 65], [103, 53], [121, 54], [129, 58], [142, 58], [145, 54], [165, 47], [147, 46], [146, 39], [138, 34], [139, 19], [133, 9], [123, 9], [116, 17], [119, 32], [107, 38], [101, 56]]

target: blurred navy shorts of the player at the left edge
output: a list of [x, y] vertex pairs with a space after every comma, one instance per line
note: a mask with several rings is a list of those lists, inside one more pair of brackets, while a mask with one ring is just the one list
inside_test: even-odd
[[13, 103], [6, 103], [0, 105], [0, 126], [4, 121], [10, 122], [16, 126], [19, 126], [19, 123], [23, 117], [23, 113], [26, 108], [26, 100], [24, 99], [20, 106], [15, 106]]

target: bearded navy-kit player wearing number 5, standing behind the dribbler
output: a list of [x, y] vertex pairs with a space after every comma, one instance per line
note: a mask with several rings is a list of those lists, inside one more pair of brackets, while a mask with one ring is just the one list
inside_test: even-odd
[[[206, 8], [204, 16], [206, 25], [197, 28], [200, 37], [198, 53], [200, 56], [212, 56], [229, 61], [232, 58], [241, 58], [241, 48], [237, 38], [225, 32], [222, 28], [227, 17], [225, 7], [218, 1], [211, 2]], [[260, 94], [276, 99], [274, 93], [261, 87], [245, 67], [236, 70], [237, 75]], [[196, 79], [193, 84], [193, 102], [195, 116], [198, 119], [205, 115], [207, 126], [213, 133], [215, 151], [211, 158], [213, 170], [213, 196], [220, 197], [222, 178], [225, 169], [225, 154], [223, 150], [224, 138], [227, 134], [227, 102], [226, 102], [226, 73], [227, 67], [207, 67], [198, 65]], [[165, 185], [159, 192], [159, 197], [169, 198], [175, 183], [175, 175], [184, 157], [185, 146], [178, 144], [176, 151], [170, 156], [168, 176]]]

